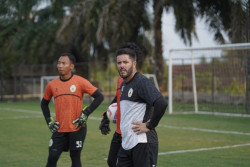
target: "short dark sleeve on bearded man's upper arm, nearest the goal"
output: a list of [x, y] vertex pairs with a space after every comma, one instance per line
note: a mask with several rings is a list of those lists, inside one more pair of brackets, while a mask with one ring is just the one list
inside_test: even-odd
[[153, 105], [153, 103], [161, 96], [161, 93], [155, 85], [147, 78], [142, 79], [138, 85], [140, 85], [138, 87], [139, 97], [150, 105]]

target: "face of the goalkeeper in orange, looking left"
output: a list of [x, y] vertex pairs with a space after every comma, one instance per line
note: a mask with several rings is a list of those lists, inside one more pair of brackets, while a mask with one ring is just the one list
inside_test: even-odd
[[71, 63], [68, 56], [61, 56], [57, 62], [57, 70], [60, 76], [71, 74], [74, 64]]

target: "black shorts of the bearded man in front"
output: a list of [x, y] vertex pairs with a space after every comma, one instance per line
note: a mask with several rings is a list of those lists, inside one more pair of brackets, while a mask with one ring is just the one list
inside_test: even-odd
[[121, 147], [117, 167], [154, 167], [157, 157], [158, 143], [139, 143], [130, 150]]

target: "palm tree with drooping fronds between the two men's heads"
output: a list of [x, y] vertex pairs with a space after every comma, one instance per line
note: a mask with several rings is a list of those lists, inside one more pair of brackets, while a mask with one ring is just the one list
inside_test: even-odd
[[[69, 15], [63, 18], [56, 40], [64, 48], [73, 52], [78, 62], [88, 62], [87, 66], [81, 66], [79, 71], [84, 71], [81, 75], [90, 78], [91, 62], [106, 62], [108, 57], [107, 48], [103, 44], [97, 43], [96, 31], [99, 21], [100, 11], [106, 1], [80, 1], [76, 3]], [[101, 64], [103, 68], [107, 64]], [[96, 81], [96, 68], [94, 66], [94, 81]]]

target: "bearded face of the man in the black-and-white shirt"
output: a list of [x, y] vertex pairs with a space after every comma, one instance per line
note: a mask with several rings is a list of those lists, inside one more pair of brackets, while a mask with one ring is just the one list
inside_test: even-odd
[[134, 72], [136, 62], [133, 61], [127, 54], [117, 56], [116, 62], [120, 76], [125, 80], [130, 78], [131, 74]]

